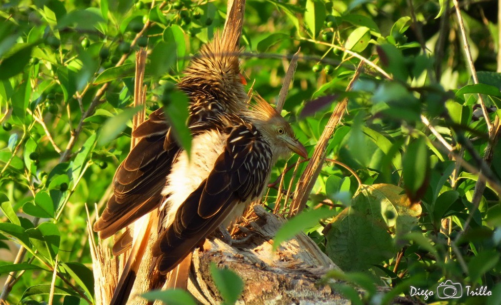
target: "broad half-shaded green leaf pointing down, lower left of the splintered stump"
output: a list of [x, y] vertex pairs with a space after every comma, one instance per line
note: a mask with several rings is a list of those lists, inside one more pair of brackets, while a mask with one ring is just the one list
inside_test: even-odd
[[61, 235], [56, 224], [43, 222], [38, 227], [28, 229], [26, 232], [40, 254], [50, 262], [53, 262], [59, 251], [59, 244], [61, 242]]

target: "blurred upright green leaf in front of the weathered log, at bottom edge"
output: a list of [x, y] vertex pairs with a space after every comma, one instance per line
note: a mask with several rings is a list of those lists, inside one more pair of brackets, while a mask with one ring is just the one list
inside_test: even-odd
[[225, 305], [234, 304], [243, 291], [243, 280], [230, 269], [219, 269], [215, 263], [210, 264], [210, 273]]

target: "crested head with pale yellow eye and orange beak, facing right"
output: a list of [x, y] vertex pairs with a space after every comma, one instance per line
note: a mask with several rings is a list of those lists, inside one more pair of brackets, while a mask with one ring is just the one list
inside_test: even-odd
[[255, 96], [256, 104], [252, 104], [248, 116], [270, 143], [274, 161], [296, 152], [308, 158], [305, 146], [296, 138], [294, 130], [280, 113], [261, 96]]

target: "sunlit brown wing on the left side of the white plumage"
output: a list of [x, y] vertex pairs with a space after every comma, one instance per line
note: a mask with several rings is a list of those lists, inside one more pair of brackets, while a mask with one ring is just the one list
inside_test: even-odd
[[179, 150], [161, 108], [151, 113], [133, 135], [140, 140], [115, 172], [113, 195], [94, 224], [101, 238], [115, 234], [159, 205], [166, 176]]

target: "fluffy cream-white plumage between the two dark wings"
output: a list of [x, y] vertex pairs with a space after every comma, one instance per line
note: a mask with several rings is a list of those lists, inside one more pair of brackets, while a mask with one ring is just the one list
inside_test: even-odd
[[226, 145], [227, 137], [217, 130], [204, 132], [192, 139], [191, 160], [188, 160], [186, 151], [179, 154], [162, 190], [162, 195], [170, 194], [161, 206], [161, 209], [168, 208], [165, 227], [172, 223], [174, 214], [188, 195], [207, 178]]

